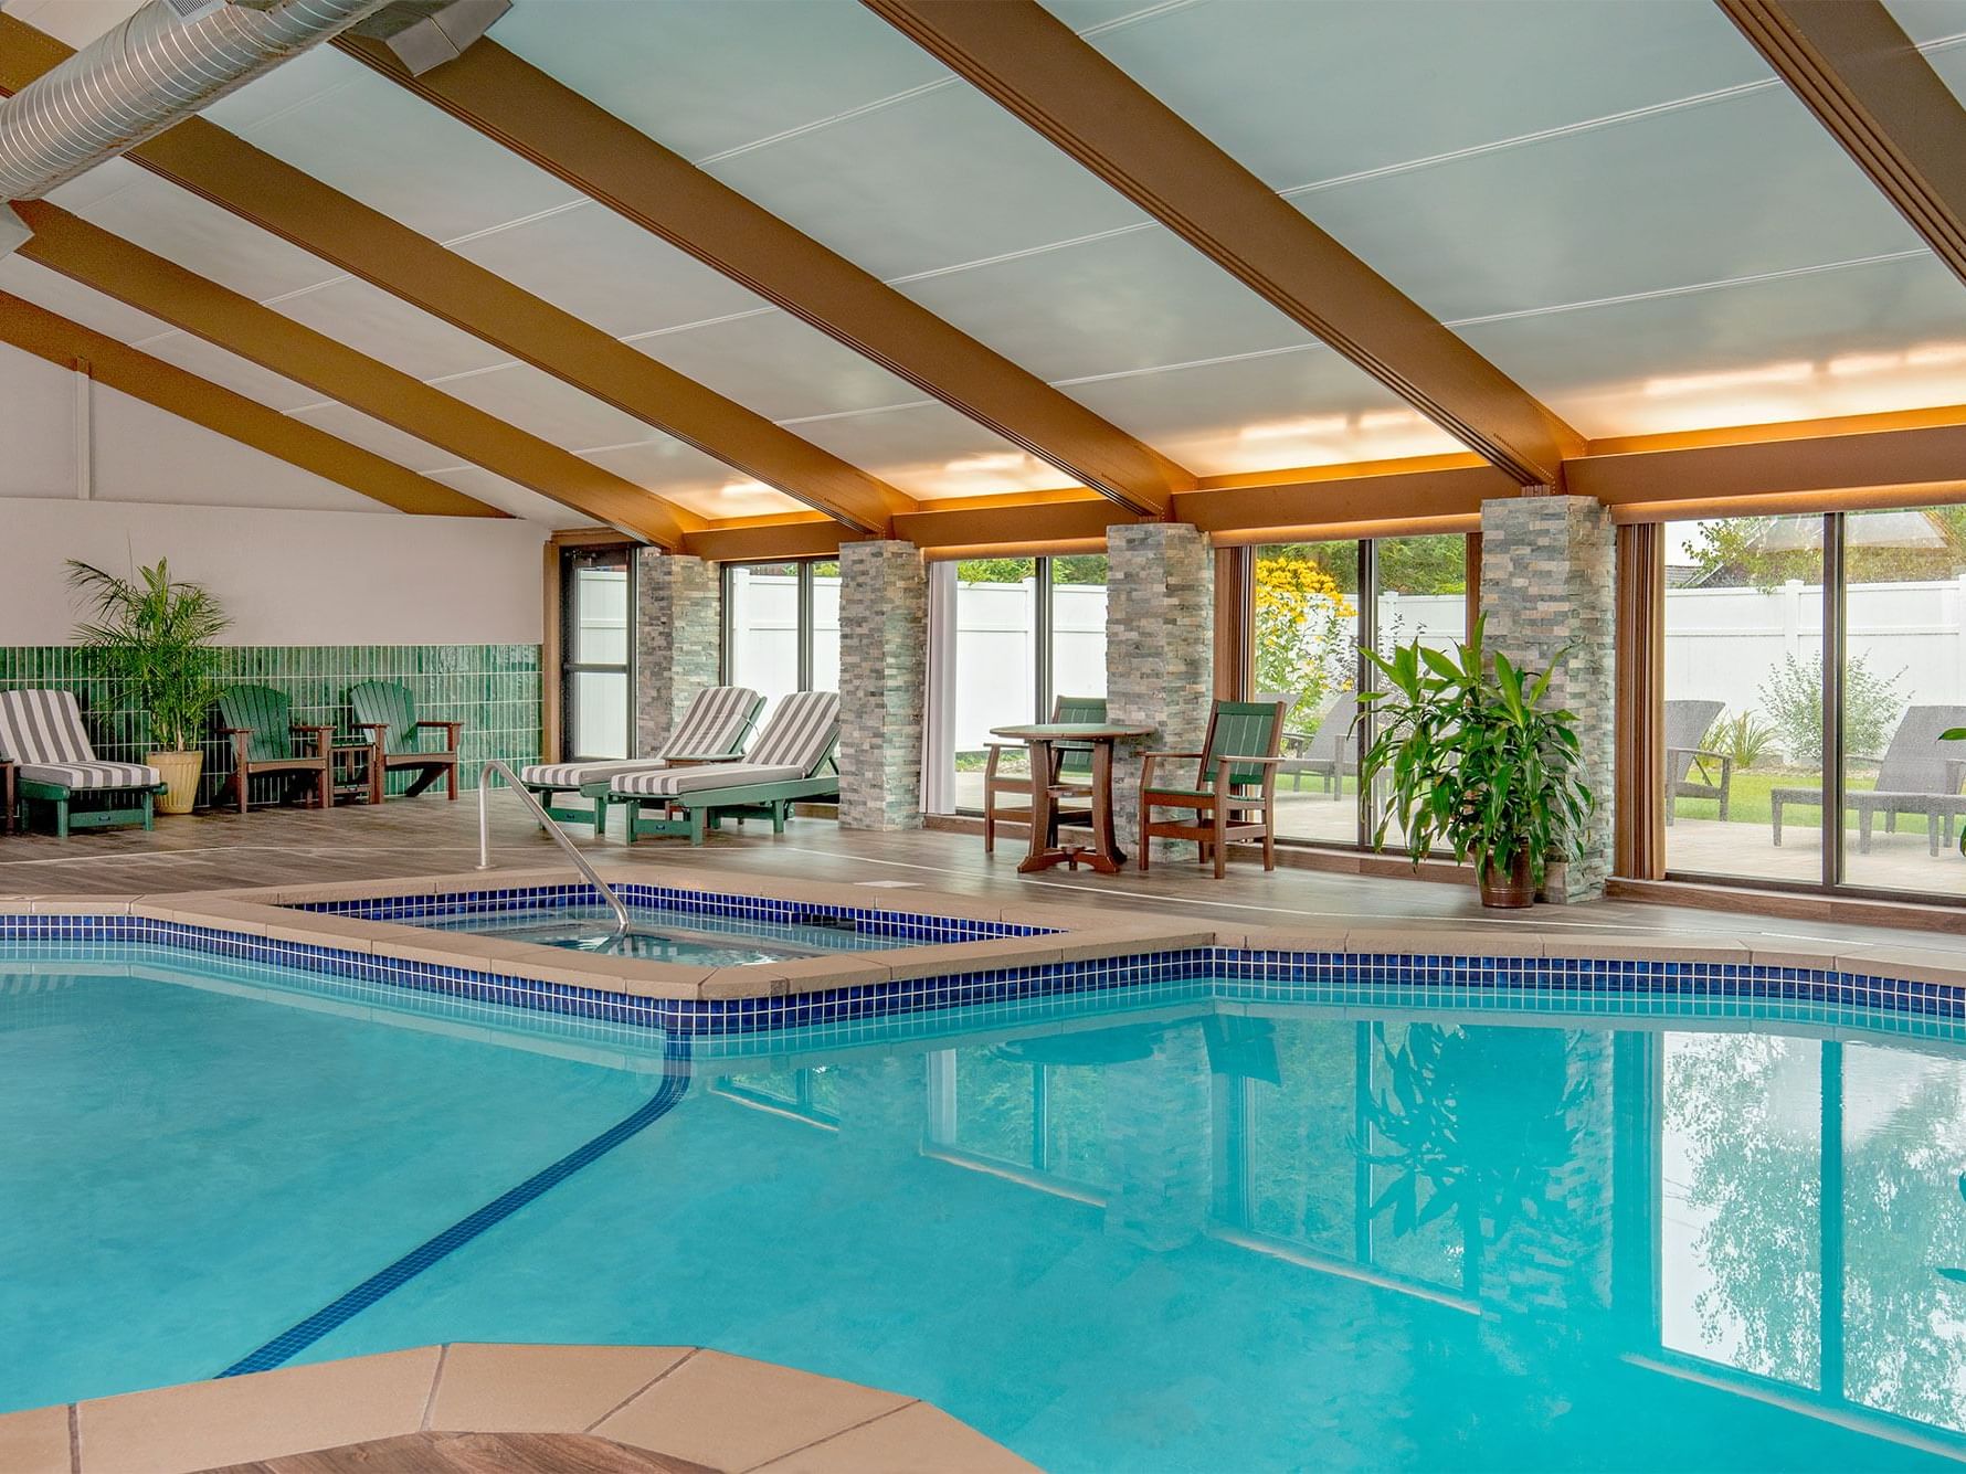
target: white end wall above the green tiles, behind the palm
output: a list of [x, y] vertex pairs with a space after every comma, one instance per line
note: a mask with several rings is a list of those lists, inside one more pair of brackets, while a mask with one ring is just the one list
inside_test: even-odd
[[65, 645], [65, 560], [169, 558], [232, 613], [232, 645], [537, 645], [547, 529], [405, 517], [114, 389], [0, 346], [0, 645]]

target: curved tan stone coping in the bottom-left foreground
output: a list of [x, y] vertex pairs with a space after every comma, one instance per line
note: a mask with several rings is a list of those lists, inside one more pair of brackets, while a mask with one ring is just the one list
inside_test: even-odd
[[413, 1433], [558, 1433], [710, 1468], [1034, 1466], [934, 1403], [698, 1346], [446, 1342], [0, 1413], [12, 1474], [177, 1474]]

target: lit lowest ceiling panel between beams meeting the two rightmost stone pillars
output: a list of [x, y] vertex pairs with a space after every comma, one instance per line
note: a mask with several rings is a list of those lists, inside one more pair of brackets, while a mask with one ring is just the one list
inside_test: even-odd
[[1463, 448], [1323, 344], [1075, 383], [1068, 393], [1197, 476]]

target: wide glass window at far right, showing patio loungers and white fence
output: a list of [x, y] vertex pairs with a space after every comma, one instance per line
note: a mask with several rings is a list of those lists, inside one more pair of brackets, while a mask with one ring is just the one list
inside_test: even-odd
[[1673, 523], [1665, 556], [1667, 871], [1966, 894], [1966, 507]]

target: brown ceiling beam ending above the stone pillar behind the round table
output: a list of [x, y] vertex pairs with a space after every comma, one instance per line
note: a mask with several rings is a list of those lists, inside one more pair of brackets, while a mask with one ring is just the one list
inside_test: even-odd
[[1195, 485], [1160, 452], [490, 37], [421, 77], [381, 41], [346, 33], [334, 45], [1128, 511], [1160, 517]]

